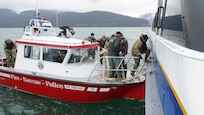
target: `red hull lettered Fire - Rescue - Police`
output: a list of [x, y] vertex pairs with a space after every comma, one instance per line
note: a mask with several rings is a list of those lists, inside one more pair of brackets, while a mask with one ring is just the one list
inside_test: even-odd
[[[49, 77], [49, 76], [48, 76]], [[130, 84], [93, 84], [50, 79], [0, 69], [0, 84], [26, 93], [59, 100], [95, 103], [122, 97], [144, 100], [145, 82]]]

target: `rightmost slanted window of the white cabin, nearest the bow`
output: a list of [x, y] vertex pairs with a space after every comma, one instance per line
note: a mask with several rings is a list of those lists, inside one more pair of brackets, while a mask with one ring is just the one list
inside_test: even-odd
[[68, 63], [79, 63], [79, 62], [84, 62], [87, 61], [91, 55], [89, 55], [90, 48], [88, 49], [74, 49], [72, 50], [70, 59]]

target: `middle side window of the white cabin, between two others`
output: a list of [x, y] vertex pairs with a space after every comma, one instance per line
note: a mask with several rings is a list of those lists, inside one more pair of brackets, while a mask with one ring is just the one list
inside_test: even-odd
[[53, 48], [43, 48], [43, 60], [62, 63], [67, 50], [53, 49]]

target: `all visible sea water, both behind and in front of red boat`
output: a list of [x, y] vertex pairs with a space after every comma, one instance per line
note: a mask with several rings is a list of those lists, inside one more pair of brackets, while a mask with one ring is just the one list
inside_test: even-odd
[[[72, 37], [84, 39], [95, 33], [96, 38], [121, 31], [129, 42], [129, 51], [141, 33], [149, 35], [149, 27], [74, 28]], [[0, 51], [4, 40], [21, 38], [23, 28], [0, 28]], [[130, 55], [130, 54], [129, 54]], [[0, 115], [144, 115], [145, 102], [117, 99], [102, 103], [81, 104], [23, 93], [0, 86]]]

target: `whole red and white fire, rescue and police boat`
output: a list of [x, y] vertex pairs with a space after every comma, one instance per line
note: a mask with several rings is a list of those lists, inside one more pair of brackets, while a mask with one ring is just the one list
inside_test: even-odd
[[[71, 28], [64, 28], [73, 32]], [[15, 41], [15, 66], [0, 66], [0, 85], [80, 103], [122, 97], [144, 100], [144, 76], [131, 79], [127, 74], [122, 82], [109, 79], [99, 59], [91, 59], [88, 53], [98, 43], [57, 35], [56, 28], [47, 19], [38, 15], [31, 19], [22, 38]]]

